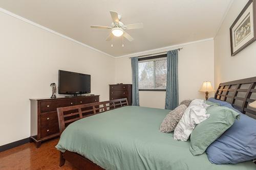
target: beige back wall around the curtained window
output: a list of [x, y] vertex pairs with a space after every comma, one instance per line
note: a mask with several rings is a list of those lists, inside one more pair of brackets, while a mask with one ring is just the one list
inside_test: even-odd
[[[203, 81], [214, 84], [214, 41], [182, 45], [179, 52], [179, 100], [204, 99], [205, 94], [198, 92]], [[115, 60], [115, 82], [131, 83], [131, 59], [121, 57]], [[212, 96], [213, 93], [210, 93]], [[165, 92], [140, 91], [140, 106], [164, 108]]]

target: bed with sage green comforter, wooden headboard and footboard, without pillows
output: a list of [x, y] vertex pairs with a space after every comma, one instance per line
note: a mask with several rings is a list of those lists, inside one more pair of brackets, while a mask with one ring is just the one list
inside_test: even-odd
[[[230, 101], [253, 117], [256, 114], [248, 103], [254, 101], [255, 82], [256, 77], [221, 83], [215, 98]], [[189, 141], [176, 141], [173, 133], [159, 132], [169, 110], [126, 105], [122, 99], [58, 108], [61, 137], [56, 148], [60, 151], [60, 166], [68, 160], [79, 169], [256, 168], [251, 161], [216, 165], [206, 154], [193, 156]]]

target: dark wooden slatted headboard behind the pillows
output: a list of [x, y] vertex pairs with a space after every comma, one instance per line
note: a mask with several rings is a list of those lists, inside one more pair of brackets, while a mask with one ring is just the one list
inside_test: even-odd
[[256, 77], [221, 83], [215, 94], [215, 99], [226, 101], [242, 113], [256, 118], [256, 111], [249, 103], [256, 100]]

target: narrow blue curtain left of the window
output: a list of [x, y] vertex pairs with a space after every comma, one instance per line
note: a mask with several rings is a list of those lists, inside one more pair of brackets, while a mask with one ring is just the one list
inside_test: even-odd
[[132, 73], [133, 73], [133, 106], [139, 106], [139, 58], [132, 57]]

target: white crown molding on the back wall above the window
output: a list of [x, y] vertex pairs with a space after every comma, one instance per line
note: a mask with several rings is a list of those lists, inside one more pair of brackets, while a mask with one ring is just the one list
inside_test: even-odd
[[198, 41], [190, 41], [190, 42], [181, 43], [181, 44], [177, 44], [177, 45], [165, 46], [165, 47], [161, 47], [161, 48], [156, 48], [154, 50], [147, 50], [147, 51], [143, 51], [143, 52], [118, 56], [118, 57], [115, 57], [115, 58], [136, 57], [136, 56], [140, 56], [140, 55], [151, 55], [152, 53], [156, 53], [156, 52], [157, 53], [162, 53], [162, 52], [172, 50], [173, 48], [182, 47], [184, 45], [195, 44], [195, 43], [200, 43], [200, 42], [204, 42], [204, 41], [211, 41], [211, 40], [214, 40], [214, 38], [206, 38], [206, 39], [201, 39], [201, 40], [198, 40]]

